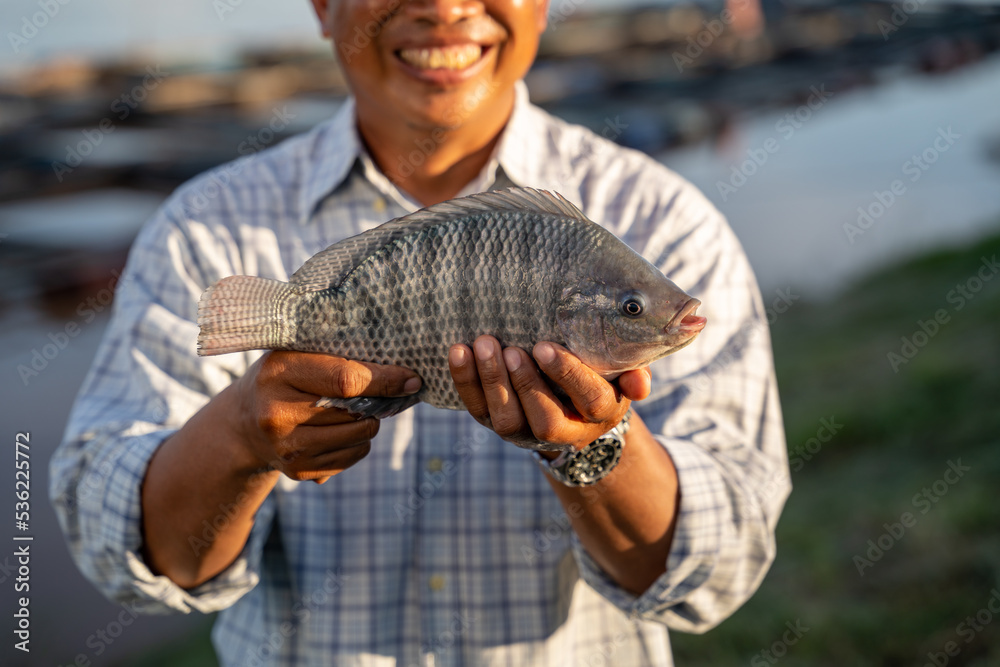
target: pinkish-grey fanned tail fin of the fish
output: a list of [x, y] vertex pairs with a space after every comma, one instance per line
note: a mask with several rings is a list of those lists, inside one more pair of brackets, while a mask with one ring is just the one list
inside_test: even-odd
[[292, 325], [283, 316], [294, 285], [229, 276], [215, 283], [198, 302], [198, 354], [276, 349], [292, 342]]

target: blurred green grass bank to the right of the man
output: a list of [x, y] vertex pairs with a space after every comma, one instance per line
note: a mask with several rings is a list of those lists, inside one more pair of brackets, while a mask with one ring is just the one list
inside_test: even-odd
[[[795, 619], [810, 631], [782, 665], [923, 665], [949, 641], [960, 649], [949, 665], [1000, 664], [1000, 622], [957, 634], [1000, 586], [1000, 275], [961, 309], [948, 301], [994, 254], [1000, 236], [888, 268], [775, 322], [790, 455], [822, 417], [843, 429], [792, 473], [760, 591], [707, 635], [674, 634], [678, 665], [770, 664], [760, 651]], [[888, 353], [938, 309], [949, 321], [894, 372]], [[915, 504], [958, 459], [971, 470], [939, 485], [936, 503]], [[860, 576], [854, 556], [904, 512], [916, 524]]]

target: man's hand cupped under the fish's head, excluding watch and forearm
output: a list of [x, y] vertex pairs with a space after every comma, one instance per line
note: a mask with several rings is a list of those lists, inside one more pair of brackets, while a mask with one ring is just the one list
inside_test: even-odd
[[[477, 338], [473, 349], [449, 351], [455, 388], [469, 413], [505, 440], [582, 449], [621, 421], [631, 401], [649, 395], [648, 369], [623, 373], [615, 386], [555, 343], [535, 345], [534, 358], [516, 347], [501, 353], [492, 336]], [[556, 396], [543, 373], [571, 404]]]

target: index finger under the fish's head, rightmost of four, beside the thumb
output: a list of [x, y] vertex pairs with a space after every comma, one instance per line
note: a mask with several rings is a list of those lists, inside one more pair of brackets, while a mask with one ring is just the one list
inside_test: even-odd
[[538, 343], [532, 351], [538, 367], [566, 392], [585, 420], [605, 422], [619, 412], [615, 389], [576, 355], [553, 343]]

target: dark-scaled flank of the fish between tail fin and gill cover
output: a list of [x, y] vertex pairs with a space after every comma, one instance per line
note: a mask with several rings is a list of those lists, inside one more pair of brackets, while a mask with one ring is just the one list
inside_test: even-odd
[[[454, 341], [490, 333], [529, 349], [537, 340], [562, 342], [554, 274], [536, 269], [556, 259], [538, 244], [545, 222], [539, 214], [464, 217], [383, 248], [349, 274], [346, 289], [303, 301], [296, 349], [406, 366], [424, 381], [421, 400], [460, 409], [440, 363]], [[532, 274], [535, 281], [524, 279]], [[356, 322], [343, 339], [327, 335], [331, 312]]]

